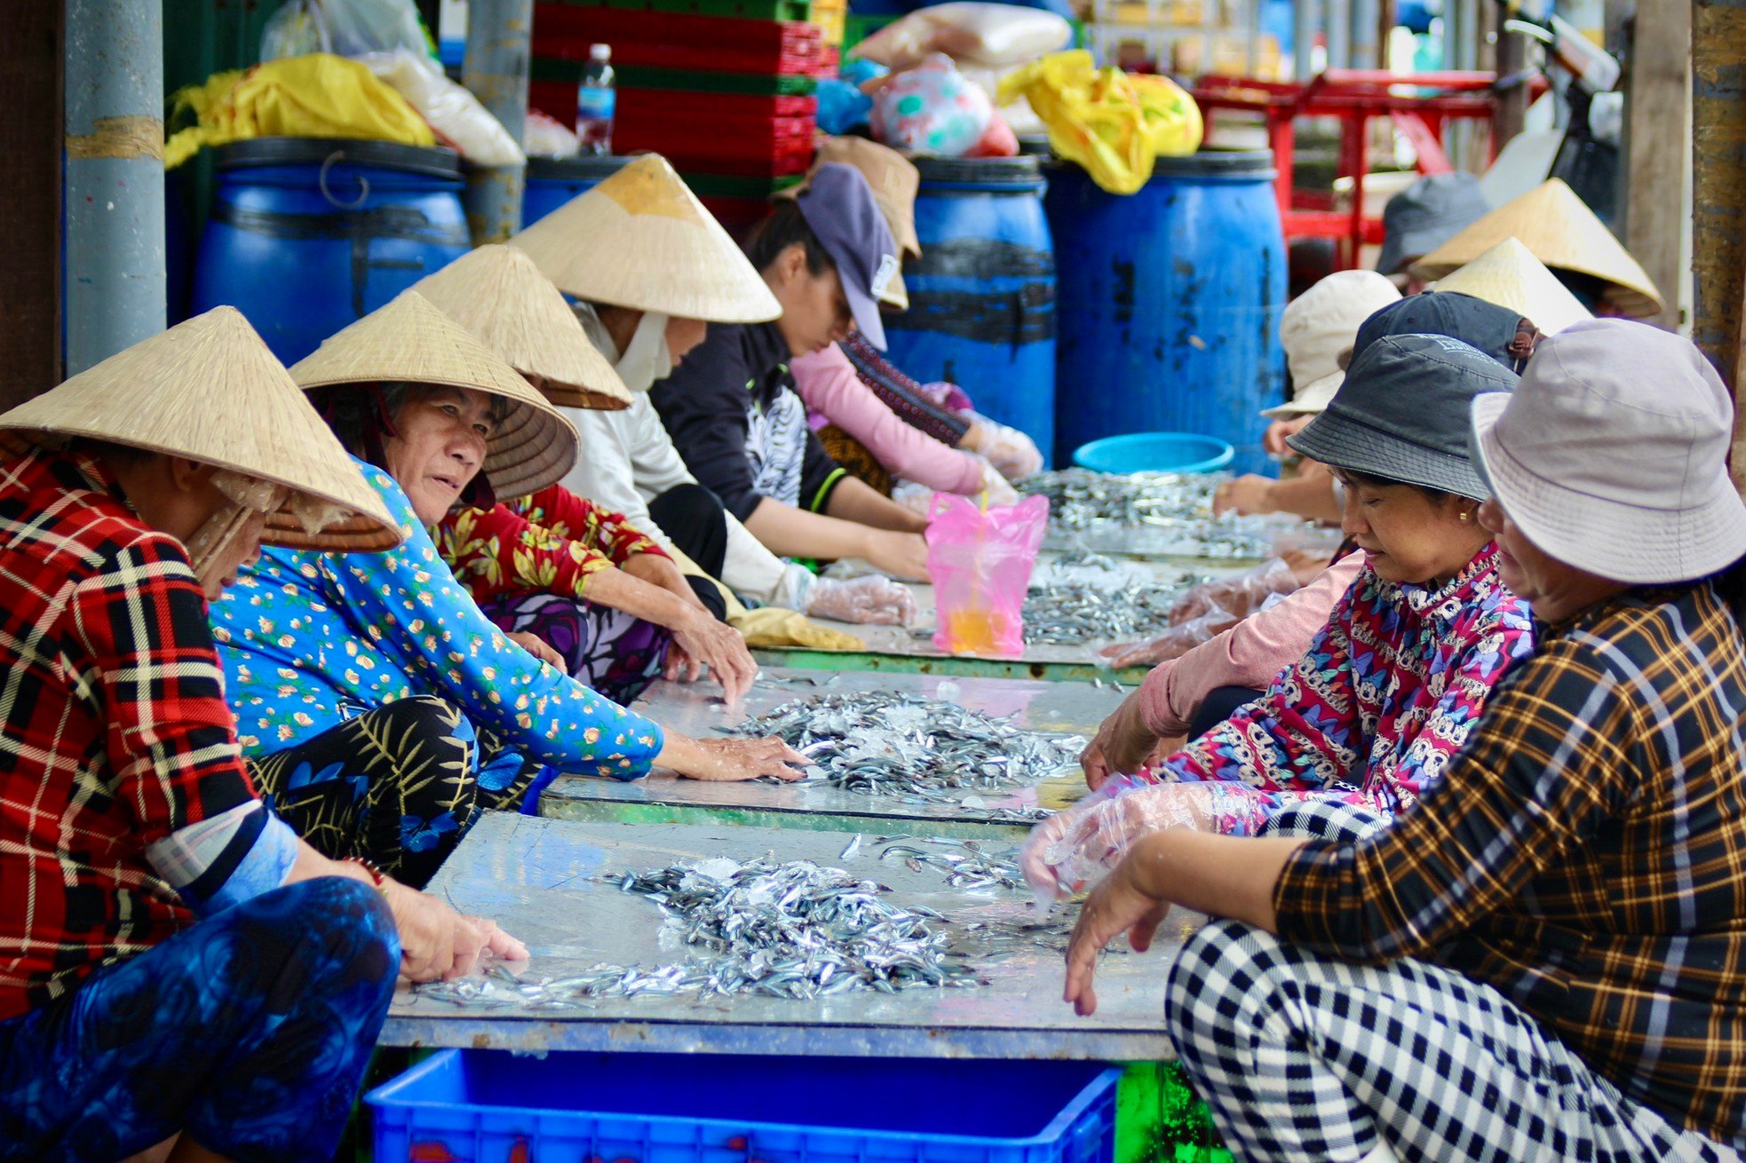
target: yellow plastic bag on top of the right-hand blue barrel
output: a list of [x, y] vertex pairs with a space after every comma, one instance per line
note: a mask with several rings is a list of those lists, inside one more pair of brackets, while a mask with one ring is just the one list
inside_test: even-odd
[[1079, 162], [1110, 194], [1133, 194], [1156, 157], [1200, 148], [1200, 107], [1168, 77], [1096, 68], [1084, 49], [1053, 52], [1000, 79], [999, 105], [1030, 101], [1056, 157]]

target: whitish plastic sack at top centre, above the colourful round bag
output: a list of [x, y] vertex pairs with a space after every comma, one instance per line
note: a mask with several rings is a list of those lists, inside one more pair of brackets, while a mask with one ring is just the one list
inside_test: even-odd
[[962, 65], [1011, 68], [1067, 47], [1072, 26], [1055, 12], [957, 0], [918, 9], [863, 40], [854, 56], [901, 72], [945, 52]]

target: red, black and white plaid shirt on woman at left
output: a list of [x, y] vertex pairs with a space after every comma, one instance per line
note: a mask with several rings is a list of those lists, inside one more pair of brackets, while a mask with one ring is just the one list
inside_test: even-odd
[[91, 458], [0, 463], [0, 1018], [190, 922], [145, 861], [255, 798], [175, 538]]

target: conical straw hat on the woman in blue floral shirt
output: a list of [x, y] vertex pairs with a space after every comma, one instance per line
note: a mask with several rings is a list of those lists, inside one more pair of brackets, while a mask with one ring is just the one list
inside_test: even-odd
[[309, 391], [379, 382], [473, 388], [510, 402], [485, 444], [485, 478], [501, 498], [527, 496], [557, 482], [576, 463], [576, 428], [491, 348], [417, 292], [330, 335], [292, 367]]

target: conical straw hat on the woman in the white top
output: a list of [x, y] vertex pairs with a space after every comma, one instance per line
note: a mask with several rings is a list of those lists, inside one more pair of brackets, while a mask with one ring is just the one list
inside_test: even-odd
[[553, 210], [510, 246], [588, 302], [707, 323], [782, 314], [758, 269], [658, 154]]

